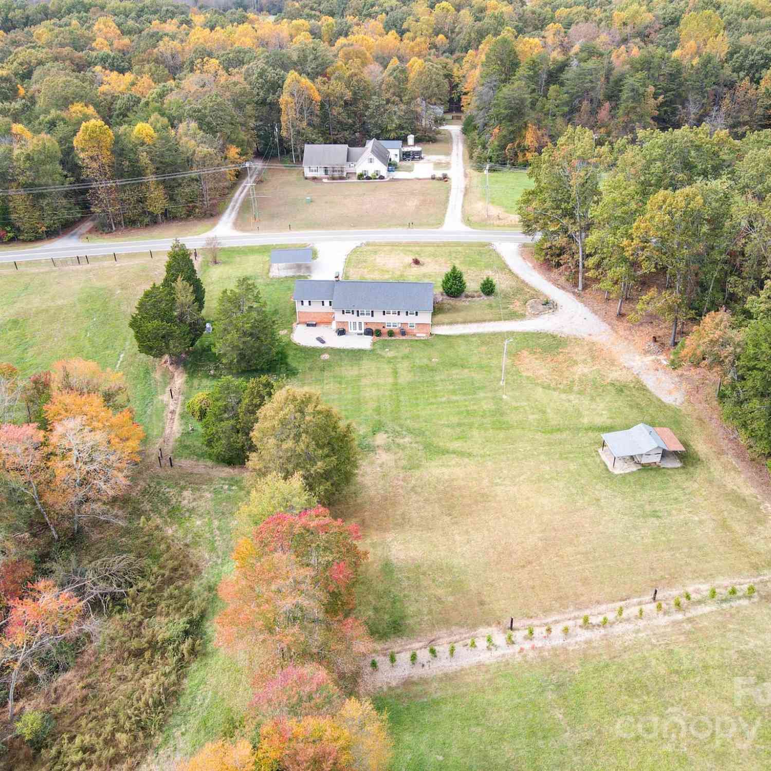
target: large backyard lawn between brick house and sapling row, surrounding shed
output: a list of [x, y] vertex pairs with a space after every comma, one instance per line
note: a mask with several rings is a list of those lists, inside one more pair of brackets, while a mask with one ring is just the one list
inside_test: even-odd
[[[298, 385], [352, 419], [366, 453], [335, 506], [370, 550], [378, 638], [537, 616], [769, 567], [769, 523], [695, 417], [599, 348], [550, 335], [295, 348]], [[616, 476], [600, 434], [645, 421], [688, 447], [679, 470]]]

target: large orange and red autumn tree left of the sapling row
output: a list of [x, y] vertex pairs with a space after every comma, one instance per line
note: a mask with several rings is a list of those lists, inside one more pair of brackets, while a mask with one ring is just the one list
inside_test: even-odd
[[359, 678], [369, 635], [352, 616], [366, 554], [355, 526], [317, 507], [268, 517], [235, 547], [234, 573], [220, 584], [221, 645], [268, 651], [268, 669], [317, 662], [345, 688]]

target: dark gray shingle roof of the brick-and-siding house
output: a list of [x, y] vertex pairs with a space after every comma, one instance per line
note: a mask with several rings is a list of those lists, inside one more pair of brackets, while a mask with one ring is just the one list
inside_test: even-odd
[[431, 281], [295, 281], [295, 300], [332, 300], [346, 311], [433, 311]]

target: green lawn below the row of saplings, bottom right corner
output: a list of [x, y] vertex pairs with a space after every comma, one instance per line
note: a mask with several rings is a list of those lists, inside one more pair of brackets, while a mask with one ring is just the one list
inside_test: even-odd
[[[396, 744], [391, 769], [768, 769], [769, 629], [761, 598], [385, 692], [375, 704]], [[735, 678], [755, 678], [759, 700]]]

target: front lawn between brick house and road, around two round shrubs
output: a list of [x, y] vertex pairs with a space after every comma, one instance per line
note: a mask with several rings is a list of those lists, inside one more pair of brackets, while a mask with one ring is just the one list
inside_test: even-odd
[[[418, 258], [422, 264], [412, 264]], [[433, 281], [442, 291], [442, 277], [456, 264], [466, 278], [468, 291], [479, 291], [480, 282], [492, 276], [496, 294], [490, 298], [449, 300], [436, 306], [436, 324], [500, 322], [524, 318], [525, 303], [537, 292], [520, 281], [489, 244], [365, 244], [345, 261], [345, 278], [385, 281]]]

